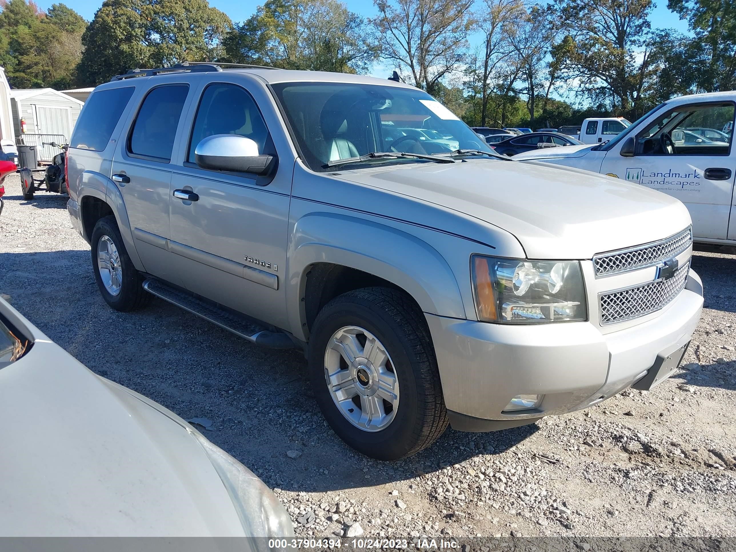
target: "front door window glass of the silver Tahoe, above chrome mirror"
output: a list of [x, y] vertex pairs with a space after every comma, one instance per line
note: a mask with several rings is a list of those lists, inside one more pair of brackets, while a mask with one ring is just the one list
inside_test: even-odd
[[238, 85], [213, 84], [205, 88], [194, 119], [187, 159], [195, 163], [197, 144], [216, 134], [245, 136], [258, 144], [259, 153], [273, 153], [274, 146], [261, 111], [250, 94]]

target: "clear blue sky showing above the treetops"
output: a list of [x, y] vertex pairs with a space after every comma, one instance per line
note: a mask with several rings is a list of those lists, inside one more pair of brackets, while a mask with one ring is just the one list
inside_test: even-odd
[[[58, 1], [58, 0], [56, 0]], [[343, 0], [347, 7], [355, 13], [361, 15], [370, 16], [375, 15], [375, 7], [371, 0]], [[687, 32], [687, 23], [680, 21], [676, 14], [670, 12], [667, 9], [667, 0], [655, 0], [657, 7], [654, 9], [652, 14], [652, 26], [659, 27], [662, 29], [677, 29], [682, 32]], [[46, 10], [53, 1], [40, 0], [38, 6]], [[230, 16], [233, 21], [244, 21], [255, 12], [256, 7], [262, 4], [263, 0], [210, 0], [210, 6], [214, 6], [224, 13]], [[94, 17], [94, 13], [102, 5], [102, 0], [66, 0], [66, 4], [77, 10], [88, 21], [91, 21]]]

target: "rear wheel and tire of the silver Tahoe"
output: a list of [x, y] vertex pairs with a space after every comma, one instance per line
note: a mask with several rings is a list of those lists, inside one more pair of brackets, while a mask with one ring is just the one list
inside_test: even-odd
[[97, 221], [92, 231], [92, 269], [102, 298], [116, 311], [128, 312], [148, 304], [151, 294], [128, 256], [115, 216]]

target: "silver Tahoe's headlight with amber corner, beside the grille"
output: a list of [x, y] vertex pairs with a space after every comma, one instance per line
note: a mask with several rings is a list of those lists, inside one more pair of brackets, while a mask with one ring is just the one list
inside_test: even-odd
[[470, 258], [478, 319], [509, 324], [587, 319], [577, 261]]

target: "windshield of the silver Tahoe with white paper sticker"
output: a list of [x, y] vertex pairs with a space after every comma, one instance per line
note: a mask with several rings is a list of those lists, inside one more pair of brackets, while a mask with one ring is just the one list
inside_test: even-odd
[[[448, 154], [456, 149], [491, 153], [484, 140], [428, 93], [417, 88], [347, 82], [281, 82], [277, 99], [313, 171], [372, 152]], [[428, 163], [418, 158], [370, 158], [363, 165]]]

